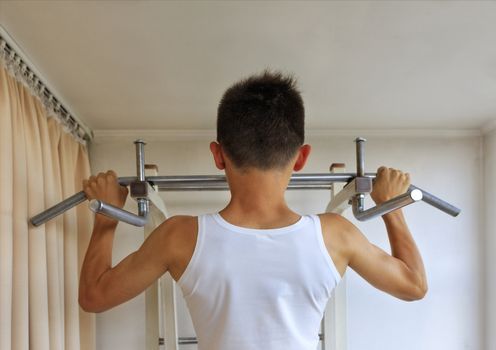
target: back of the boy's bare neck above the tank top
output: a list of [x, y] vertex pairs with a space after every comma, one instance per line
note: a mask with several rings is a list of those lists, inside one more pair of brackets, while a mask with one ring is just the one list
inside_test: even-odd
[[300, 216], [288, 207], [284, 198], [289, 175], [259, 170], [228, 175], [231, 201], [220, 214], [234, 225], [251, 228], [295, 223]]

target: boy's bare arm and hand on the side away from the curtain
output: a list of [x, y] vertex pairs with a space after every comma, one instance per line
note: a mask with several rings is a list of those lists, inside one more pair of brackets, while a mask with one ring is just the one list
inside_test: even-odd
[[[394, 169], [380, 168], [372, 198], [377, 204], [404, 193], [409, 176]], [[374, 287], [403, 300], [418, 300], [427, 292], [427, 279], [419, 250], [401, 210], [383, 216], [391, 254], [370, 243], [351, 222], [340, 215], [326, 214], [328, 239], [338, 270], [350, 266]], [[327, 243], [327, 242], [326, 242]]]

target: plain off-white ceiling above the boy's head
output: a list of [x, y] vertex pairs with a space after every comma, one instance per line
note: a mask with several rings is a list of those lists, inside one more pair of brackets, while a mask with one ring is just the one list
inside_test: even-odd
[[0, 25], [92, 129], [213, 129], [223, 91], [296, 75], [310, 129], [496, 119], [494, 1], [4, 1]]

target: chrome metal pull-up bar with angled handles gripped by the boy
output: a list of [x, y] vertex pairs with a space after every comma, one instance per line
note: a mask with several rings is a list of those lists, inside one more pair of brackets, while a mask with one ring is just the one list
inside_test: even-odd
[[[372, 180], [375, 178], [376, 174], [364, 172], [365, 139], [357, 138], [355, 142], [357, 151], [357, 173], [294, 174], [291, 177], [288, 189], [330, 190], [333, 183], [347, 183], [345, 188], [339, 192], [335, 199], [330, 203], [330, 207], [338, 208], [351, 204], [353, 207], [353, 214], [361, 221], [384, 215], [419, 200], [422, 200], [451, 216], [457, 216], [460, 213], [460, 209], [457, 207], [413, 185], [410, 186], [405, 194], [382, 203], [379, 206], [365, 210], [364, 198], [367, 193], [372, 191]], [[138, 201], [139, 215], [113, 207], [98, 200], [94, 200], [90, 203], [90, 209], [94, 212], [100, 212], [104, 215], [136, 226], [144, 226], [148, 214], [148, 197], [151, 192], [155, 191], [154, 188], [158, 191], [222, 191], [229, 189], [226, 177], [223, 175], [145, 176], [145, 143], [142, 140], [137, 140], [135, 141], [135, 144], [137, 176], [119, 177], [118, 182], [122, 186], [131, 187], [131, 196]], [[39, 226], [79, 203], [84, 202], [86, 199], [85, 193], [81, 191], [32, 217], [30, 221], [34, 226]]]

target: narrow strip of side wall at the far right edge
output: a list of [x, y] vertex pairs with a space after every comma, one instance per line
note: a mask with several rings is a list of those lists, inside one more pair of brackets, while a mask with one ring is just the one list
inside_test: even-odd
[[496, 129], [484, 135], [484, 194], [485, 194], [485, 247], [486, 247], [486, 349], [496, 349], [496, 206], [492, 199], [496, 196]]

